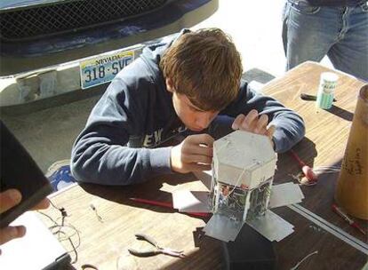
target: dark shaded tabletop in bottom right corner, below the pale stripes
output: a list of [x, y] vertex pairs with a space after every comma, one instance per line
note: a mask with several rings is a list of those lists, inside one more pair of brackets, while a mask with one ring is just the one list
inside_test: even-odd
[[339, 238], [316, 226], [307, 218], [295, 215], [289, 209], [274, 210], [294, 226], [294, 233], [281, 242], [275, 242], [278, 257], [277, 269], [291, 269], [309, 253], [318, 251], [308, 258], [298, 270], [361, 269], [367, 261], [364, 253], [341, 241]]

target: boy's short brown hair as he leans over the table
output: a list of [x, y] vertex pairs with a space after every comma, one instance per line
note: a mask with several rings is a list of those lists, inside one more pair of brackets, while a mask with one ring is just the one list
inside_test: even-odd
[[235, 44], [219, 28], [178, 37], [162, 57], [160, 67], [174, 91], [204, 111], [221, 110], [236, 99], [242, 63]]

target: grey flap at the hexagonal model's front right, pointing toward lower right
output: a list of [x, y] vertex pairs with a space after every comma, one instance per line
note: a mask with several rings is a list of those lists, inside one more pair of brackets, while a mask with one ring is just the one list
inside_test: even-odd
[[268, 210], [264, 216], [246, 221], [246, 223], [269, 241], [281, 241], [294, 231], [292, 224], [271, 210]]

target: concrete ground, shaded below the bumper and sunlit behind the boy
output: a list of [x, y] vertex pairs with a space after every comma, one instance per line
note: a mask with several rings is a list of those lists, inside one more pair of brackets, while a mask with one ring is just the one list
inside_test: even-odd
[[[219, 2], [219, 10], [195, 28], [222, 28], [232, 36], [242, 55], [244, 71], [248, 71], [245, 73], [248, 80], [266, 83], [272, 79], [271, 75], [283, 75], [284, 0]], [[2, 112], [1, 118], [45, 172], [52, 163], [69, 159], [72, 144], [98, 99], [99, 96], [94, 96], [61, 106], [56, 99], [52, 108], [33, 113], [18, 111], [21, 115]]]

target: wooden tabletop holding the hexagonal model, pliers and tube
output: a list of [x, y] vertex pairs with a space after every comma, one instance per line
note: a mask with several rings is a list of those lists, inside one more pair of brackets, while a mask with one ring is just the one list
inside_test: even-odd
[[[300, 92], [316, 94], [320, 74], [326, 70], [328, 68], [307, 62], [264, 87], [265, 93], [281, 100], [286, 107], [292, 107], [304, 118], [306, 138], [294, 149], [314, 167], [340, 165], [357, 92], [364, 85], [351, 76], [334, 71], [340, 76], [337, 102], [331, 110], [316, 113], [315, 102], [301, 100]], [[279, 155], [275, 182], [291, 181], [289, 174], [298, 171], [298, 164], [290, 155]], [[298, 269], [361, 269], [366, 263], [367, 239], [331, 210], [337, 177], [338, 173], [321, 174], [316, 186], [301, 187], [306, 198], [298, 208], [275, 210], [295, 226], [293, 234], [274, 243], [277, 269], [291, 269], [316, 250], [318, 253], [306, 259]], [[220, 242], [210, 237], [195, 241], [196, 228], [205, 225], [205, 218], [193, 218], [129, 200], [130, 197], [142, 197], [171, 201], [171, 193], [180, 189], [205, 190], [205, 187], [192, 174], [187, 174], [161, 177], [133, 187], [73, 186], [52, 195], [52, 202], [67, 210], [66, 223], [79, 231], [78, 261], [73, 266], [80, 269], [84, 264], [92, 264], [99, 269], [116, 269], [116, 262], [120, 261], [129, 265], [124, 269], [221, 269], [224, 264]], [[60, 211], [54, 208], [45, 212], [52, 218], [60, 217]], [[43, 217], [43, 220], [52, 225], [48, 218]], [[367, 222], [358, 221], [366, 230]], [[340, 227], [340, 231], [334, 231], [334, 226]], [[127, 255], [128, 247], [147, 247], [146, 243], [135, 239], [134, 234], [139, 232], [151, 235], [163, 246], [185, 250], [187, 258], [164, 255], [134, 258]], [[76, 235], [72, 239], [76, 244]], [[63, 243], [70, 249], [68, 242]], [[73, 253], [71, 256], [74, 258]]]

